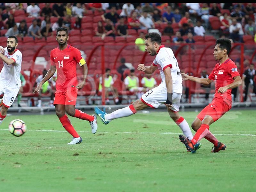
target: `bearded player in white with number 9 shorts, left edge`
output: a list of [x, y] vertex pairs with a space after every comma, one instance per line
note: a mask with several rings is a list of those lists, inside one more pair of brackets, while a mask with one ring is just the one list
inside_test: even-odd
[[7, 38], [6, 47], [0, 46], [0, 59], [4, 61], [4, 67], [0, 73], [0, 94], [4, 93], [1, 100], [0, 124], [7, 114], [7, 110], [13, 104], [21, 86], [20, 70], [22, 54], [16, 49], [18, 39], [14, 35]]

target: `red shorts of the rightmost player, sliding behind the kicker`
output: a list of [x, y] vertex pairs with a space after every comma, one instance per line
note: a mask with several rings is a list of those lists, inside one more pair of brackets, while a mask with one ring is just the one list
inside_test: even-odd
[[231, 107], [232, 101], [222, 97], [217, 97], [214, 98], [212, 102], [207, 105], [196, 117], [202, 121], [204, 116], [209, 115], [212, 117], [213, 121], [217, 121], [221, 116], [228, 112]]

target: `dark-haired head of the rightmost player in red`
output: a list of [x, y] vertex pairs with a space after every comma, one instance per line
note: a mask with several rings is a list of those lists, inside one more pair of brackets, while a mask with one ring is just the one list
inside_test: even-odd
[[216, 40], [213, 56], [215, 60], [220, 60], [228, 55], [231, 50], [231, 41], [228, 38], [220, 38]]

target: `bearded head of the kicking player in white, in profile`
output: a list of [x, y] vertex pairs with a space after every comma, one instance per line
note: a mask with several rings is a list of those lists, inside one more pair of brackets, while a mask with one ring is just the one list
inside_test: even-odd
[[158, 33], [149, 33], [145, 36], [145, 39], [145, 50], [151, 56], [155, 56], [162, 43], [161, 36]]

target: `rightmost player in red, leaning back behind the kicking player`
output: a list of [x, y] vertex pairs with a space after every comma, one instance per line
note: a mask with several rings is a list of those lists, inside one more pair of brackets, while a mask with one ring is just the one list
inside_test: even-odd
[[209, 85], [212, 81], [215, 83], [215, 95], [212, 102], [196, 116], [191, 125], [196, 131], [193, 139], [189, 140], [183, 135], [179, 136], [188, 151], [192, 151], [194, 145], [203, 137], [213, 143], [213, 153], [226, 149], [226, 145], [220, 143], [209, 131], [209, 126], [230, 110], [232, 107], [231, 89], [242, 84], [236, 64], [228, 57], [230, 50], [231, 41], [229, 39], [216, 40], [213, 56], [220, 62], [215, 65], [208, 78], [198, 78], [181, 73], [183, 80], [191, 80], [205, 85]]

